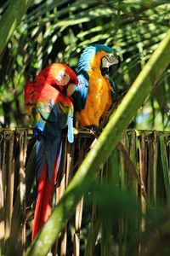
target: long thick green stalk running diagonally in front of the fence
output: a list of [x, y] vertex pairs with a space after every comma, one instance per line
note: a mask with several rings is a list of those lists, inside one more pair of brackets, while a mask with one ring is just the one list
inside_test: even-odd
[[161, 73], [169, 64], [168, 52], [170, 52], [170, 31], [167, 32], [166, 37], [151, 55], [150, 60], [139, 73], [116, 112], [111, 115], [110, 121], [94, 144], [94, 148], [89, 151], [65, 190], [65, 195], [32, 242], [26, 253], [27, 256], [42, 256], [48, 253], [60, 231], [64, 228], [67, 219], [75, 211], [78, 201], [93, 183], [95, 172], [116, 147], [117, 141], [122, 137], [122, 132], [127, 129], [127, 125], [133, 119], [144, 99], [150, 95], [150, 91], [154, 88]]

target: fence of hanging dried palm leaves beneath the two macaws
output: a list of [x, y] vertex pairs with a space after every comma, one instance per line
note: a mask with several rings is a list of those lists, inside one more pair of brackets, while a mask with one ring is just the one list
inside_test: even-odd
[[[77, 167], [95, 143], [95, 135], [80, 131], [70, 144], [64, 137], [54, 205], [65, 193]], [[137, 232], [147, 229], [147, 207], [161, 201], [170, 204], [170, 132], [127, 131], [96, 173], [100, 182], [127, 189], [140, 201], [142, 215], [134, 219]], [[31, 226], [36, 201], [35, 137], [28, 129], [0, 130], [0, 242], [1, 255], [24, 255], [31, 244]], [[74, 217], [55, 241], [50, 255], [126, 255], [128, 219], [117, 216], [116, 230], [102, 221], [97, 206], [85, 198]], [[107, 214], [107, 213], [106, 213]], [[105, 225], [107, 230], [105, 230]], [[118, 237], [115, 239], [115, 237]], [[109, 243], [109, 244], [108, 244]], [[99, 250], [99, 251], [98, 251]], [[144, 245], [136, 245], [136, 255]]]

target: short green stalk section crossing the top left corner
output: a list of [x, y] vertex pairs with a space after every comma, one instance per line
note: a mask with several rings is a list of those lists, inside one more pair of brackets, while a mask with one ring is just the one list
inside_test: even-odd
[[19, 25], [22, 16], [33, 3], [33, 0], [13, 0], [10, 1], [8, 9], [0, 20], [0, 54], [12, 36], [14, 29]]

